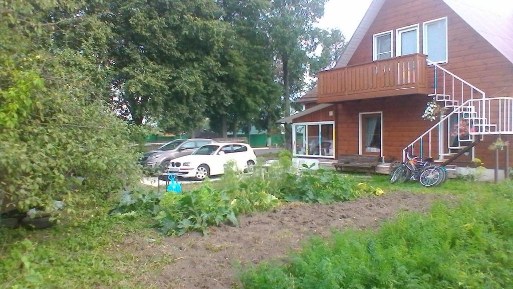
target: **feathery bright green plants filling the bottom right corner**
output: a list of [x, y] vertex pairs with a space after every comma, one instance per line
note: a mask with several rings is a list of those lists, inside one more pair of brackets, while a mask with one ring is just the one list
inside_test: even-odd
[[513, 205], [500, 192], [428, 215], [401, 213], [378, 232], [314, 238], [283, 265], [242, 275], [244, 288], [506, 288], [513, 280]]

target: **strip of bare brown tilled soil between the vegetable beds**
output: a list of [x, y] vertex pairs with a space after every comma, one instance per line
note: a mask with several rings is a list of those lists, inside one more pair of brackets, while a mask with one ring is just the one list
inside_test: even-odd
[[145, 274], [141, 284], [151, 288], [230, 288], [233, 264], [283, 258], [314, 235], [328, 236], [331, 228], [373, 228], [400, 211], [425, 211], [441, 196], [399, 192], [332, 205], [290, 203], [270, 212], [239, 218], [240, 226], [213, 227], [209, 234], [169, 237], [162, 244], [143, 237], [129, 238], [123, 247], [141, 259], [165, 256], [171, 262]]

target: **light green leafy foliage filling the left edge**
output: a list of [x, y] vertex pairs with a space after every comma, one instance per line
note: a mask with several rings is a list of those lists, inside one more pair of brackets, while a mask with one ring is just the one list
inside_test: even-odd
[[138, 179], [138, 129], [101, 98], [109, 88], [97, 50], [103, 26], [77, 7], [39, 1], [0, 8], [0, 202], [70, 205]]

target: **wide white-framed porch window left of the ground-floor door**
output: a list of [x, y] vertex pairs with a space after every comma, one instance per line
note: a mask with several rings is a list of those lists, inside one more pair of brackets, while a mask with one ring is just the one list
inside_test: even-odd
[[333, 158], [334, 134], [333, 121], [292, 124], [293, 155]]

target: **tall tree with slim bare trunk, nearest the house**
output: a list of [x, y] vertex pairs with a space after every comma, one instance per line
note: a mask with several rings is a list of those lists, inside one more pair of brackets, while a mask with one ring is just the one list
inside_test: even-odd
[[[308, 56], [317, 47], [313, 24], [324, 14], [326, 0], [274, 0], [268, 15], [268, 32], [275, 57], [281, 64], [283, 109], [290, 116], [291, 87], [301, 89]], [[294, 90], [295, 90], [294, 89]], [[295, 93], [295, 91], [292, 91]], [[285, 143], [291, 149], [291, 129], [285, 124]]]

